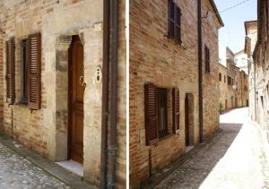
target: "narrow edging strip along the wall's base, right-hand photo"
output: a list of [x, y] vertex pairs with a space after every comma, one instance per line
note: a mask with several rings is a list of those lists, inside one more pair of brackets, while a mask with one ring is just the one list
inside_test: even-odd
[[204, 140], [203, 143], [199, 143], [194, 146], [191, 150], [188, 150], [185, 154], [183, 154], [180, 158], [176, 159], [173, 163], [171, 163], [169, 166], [162, 168], [161, 171], [158, 171], [155, 173], [151, 178], [144, 180], [140, 186], [134, 186], [134, 188], [143, 188], [143, 189], [150, 189], [155, 187], [156, 185], [159, 185], [162, 180], [164, 180], [167, 176], [172, 174], [176, 169], [183, 166], [187, 160], [192, 159], [195, 157], [197, 152], [207, 146], [210, 142], [212, 142], [214, 139], [216, 139], [218, 136], [220, 136], [222, 133], [222, 130], [219, 129], [215, 133], [213, 133], [212, 137], [210, 137], [207, 140]]

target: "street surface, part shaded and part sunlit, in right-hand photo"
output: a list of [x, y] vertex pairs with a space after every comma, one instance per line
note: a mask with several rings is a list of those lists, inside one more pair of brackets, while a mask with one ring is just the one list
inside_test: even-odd
[[247, 111], [239, 108], [222, 115], [222, 133], [155, 188], [269, 188], [264, 145]]

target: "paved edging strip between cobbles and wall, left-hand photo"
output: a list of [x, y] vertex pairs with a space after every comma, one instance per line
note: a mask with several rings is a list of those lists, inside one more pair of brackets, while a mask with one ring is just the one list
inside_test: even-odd
[[43, 158], [37, 152], [30, 150], [29, 148], [23, 146], [21, 143], [16, 142], [15, 140], [7, 137], [6, 135], [0, 133], [0, 142], [3, 143], [6, 147], [15, 151], [21, 155], [24, 159], [28, 159], [31, 163], [36, 165], [39, 168], [42, 168], [49, 175], [56, 177], [58, 180], [64, 182], [66, 185], [69, 185], [72, 188], [77, 189], [95, 189], [98, 188], [95, 185], [91, 185], [83, 181], [82, 176], [77, 176], [69, 170], [60, 167], [56, 163]]

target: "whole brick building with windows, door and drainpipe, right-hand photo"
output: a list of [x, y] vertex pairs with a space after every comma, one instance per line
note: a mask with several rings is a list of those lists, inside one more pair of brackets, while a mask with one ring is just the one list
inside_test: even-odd
[[213, 0], [130, 1], [131, 187], [219, 128], [215, 13]]

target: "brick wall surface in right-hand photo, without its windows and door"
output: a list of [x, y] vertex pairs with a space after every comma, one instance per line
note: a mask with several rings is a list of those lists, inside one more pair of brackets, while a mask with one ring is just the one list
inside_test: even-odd
[[[193, 94], [193, 141], [199, 142], [198, 119], [198, 45], [196, 1], [176, 1], [182, 11], [179, 46], [168, 39], [168, 1], [130, 1], [130, 185], [135, 187], [156, 171], [169, 165], [185, 153], [185, 99]], [[204, 8], [209, 7], [204, 4]], [[204, 9], [203, 8], [203, 9]], [[209, 7], [213, 9], [211, 6]], [[195, 11], [194, 11], [195, 10]], [[206, 10], [203, 11], [205, 15]], [[203, 21], [204, 22], [204, 21]], [[203, 26], [204, 42], [211, 49], [212, 73], [204, 75], [204, 135], [218, 128], [218, 29], [216, 18], [212, 28]], [[204, 46], [204, 45], [203, 45]], [[203, 48], [204, 49], [204, 48]], [[203, 51], [204, 52], [204, 51]], [[204, 62], [203, 62], [204, 73]], [[156, 145], [145, 145], [144, 91], [145, 83], [152, 82], [168, 92], [171, 107], [171, 89], [178, 87], [180, 97], [180, 129], [171, 132], [172, 116], [168, 110], [169, 135]], [[212, 111], [213, 110], [213, 111]], [[152, 170], [150, 170], [150, 167]]]

